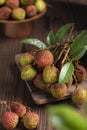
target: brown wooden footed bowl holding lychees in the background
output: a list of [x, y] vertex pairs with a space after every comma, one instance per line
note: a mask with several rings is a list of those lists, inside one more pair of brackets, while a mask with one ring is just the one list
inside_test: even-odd
[[31, 34], [33, 31], [33, 21], [41, 18], [46, 13], [46, 9], [31, 18], [24, 20], [0, 20], [0, 23], [4, 24], [3, 32], [5, 36], [10, 38], [20, 38]]

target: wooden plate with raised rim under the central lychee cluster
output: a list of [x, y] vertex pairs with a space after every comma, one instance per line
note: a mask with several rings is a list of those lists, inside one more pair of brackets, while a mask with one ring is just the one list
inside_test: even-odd
[[[23, 54], [23, 53], [22, 53]], [[19, 70], [21, 71], [21, 67], [19, 65], [19, 58], [22, 54], [18, 54], [15, 56], [15, 62], [19, 68]], [[25, 83], [27, 85], [27, 88], [28, 90], [30, 91], [31, 93], [31, 96], [33, 98], [33, 101], [36, 103], [36, 104], [46, 104], [46, 103], [53, 103], [53, 102], [57, 102], [57, 101], [61, 101], [61, 100], [65, 100], [65, 99], [68, 99], [71, 95], [71, 93], [74, 91], [75, 89], [75, 86], [72, 85], [69, 87], [68, 89], [68, 92], [67, 92], [67, 95], [62, 98], [61, 100], [60, 99], [56, 99], [54, 98], [50, 92], [48, 90], [46, 91], [42, 91], [42, 90], [39, 90], [37, 89], [36, 87], [34, 87], [33, 83], [32, 82], [28, 82], [25, 80]], [[80, 86], [84, 87], [87, 89], [87, 79], [84, 80], [83, 82], [80, 83]]]

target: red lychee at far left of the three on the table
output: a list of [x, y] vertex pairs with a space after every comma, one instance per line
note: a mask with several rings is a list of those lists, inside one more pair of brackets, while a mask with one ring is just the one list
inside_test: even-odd
[[5, 111], [2, 113], [1, 123], [5, 129], [7, 130], [14, 129], [17, 126], [18, 121], [19, 117], [16, 113], [10, 111]]

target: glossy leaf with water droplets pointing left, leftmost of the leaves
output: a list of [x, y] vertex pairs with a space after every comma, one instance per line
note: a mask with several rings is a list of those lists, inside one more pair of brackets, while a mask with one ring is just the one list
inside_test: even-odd
[[21, 41], [22, 43], [26, 43], [26, 44], [31, 44], [34, 45], [40, 49], [45, 49], [47, 48], [47, 46], [40, 40], [38, 39], [25, 39]]

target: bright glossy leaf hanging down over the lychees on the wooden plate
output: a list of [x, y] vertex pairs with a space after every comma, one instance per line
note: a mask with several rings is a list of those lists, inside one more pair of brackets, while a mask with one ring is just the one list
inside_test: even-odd
[[74, 65], [71, 62], [67, 62], [62, 67], [59, 74], [59, 84], [67, 83], [74, 72]]

